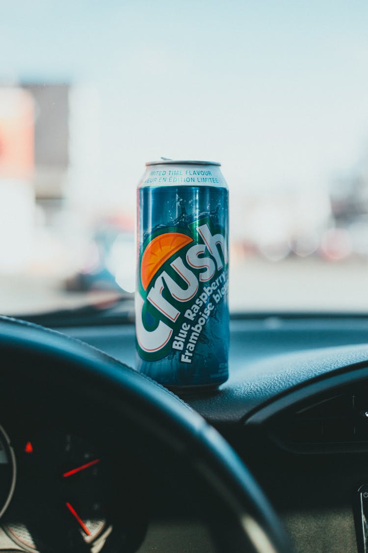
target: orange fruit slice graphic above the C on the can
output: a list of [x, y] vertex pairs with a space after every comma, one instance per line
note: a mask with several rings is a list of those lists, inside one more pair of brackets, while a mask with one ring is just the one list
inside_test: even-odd
[[147, 290], [153, 276], [169, 257], [190, 242], [193, 242], [193, 238], [180, 232], [166, 232], [153, 238], [142, 255], [141, 281], [144, 290]]

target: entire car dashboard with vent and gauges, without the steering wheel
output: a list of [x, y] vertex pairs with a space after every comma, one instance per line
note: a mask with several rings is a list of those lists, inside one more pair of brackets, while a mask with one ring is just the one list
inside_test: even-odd
[[[57, 330], [134, 366], [131, 323]], [[228, 381], [216, 392], [186, 393], [182, 399], [220, 431], [252, 471], [295, 551], [364, 551], [368, 319], [235, 316], [230, 330]], [[2, 519], [0, 540], [6, 546], [1, 551], [35, 551], [44, 546], [42, 540], [58, 539], [50, 512], [41, 508], [46, 488], [68, 504], [60, 520], [66, 515], [81, 519], [78, 535], [93, 543], [93, 553], [104, 551], [110, 535], [121, 543], [131, 540], [142, 553], [211, 550], [205, 526], [189, 515], [190, 500], [182, 492], [170, 495], [172, 489], [159, 479], [153, 482], [145, 462], [116, 440], [108, 414], [97, 415], [77, 399], [71, 406], [62, 398], [52, 405], [47, 398], [37, 402], [24, 395], [1, 405], [0, 424], [11, 435], [23, 474]], [[45, 489], [35, 488], [40, 471]], [[56, 473], [53, 481], [50, 475]], [[125, 525], [114, 519], [122, 497]], [[76, 504], [81, 512], [73, 513]], [[25, 506], [34, 515], [28, 525]], [[60, 524], [69, 528], [67, 522]], [[73, 534], [73, 539], [79, 538]]]

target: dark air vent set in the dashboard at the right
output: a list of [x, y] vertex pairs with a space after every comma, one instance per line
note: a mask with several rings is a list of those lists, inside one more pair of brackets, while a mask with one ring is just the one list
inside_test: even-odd
[[368, 446], [368, 388], [346, 390], [288, 409], [274, 426], [284, 444]]

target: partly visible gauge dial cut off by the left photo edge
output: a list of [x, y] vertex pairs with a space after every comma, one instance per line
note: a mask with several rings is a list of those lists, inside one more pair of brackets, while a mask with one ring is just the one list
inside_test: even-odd
[[0, 426], [0, 517], [12, 499], [15, 487], [15, 457], [9, 438]]

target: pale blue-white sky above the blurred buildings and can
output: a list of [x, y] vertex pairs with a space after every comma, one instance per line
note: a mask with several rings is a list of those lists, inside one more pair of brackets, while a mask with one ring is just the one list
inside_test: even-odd
[[367, 29], [363, 0], [12, 0], [0, 82], [87, 91], [96, 201], [133, 208], [160, 156], [220, 161], [235, 197], [321, 190], [368, 157]]

